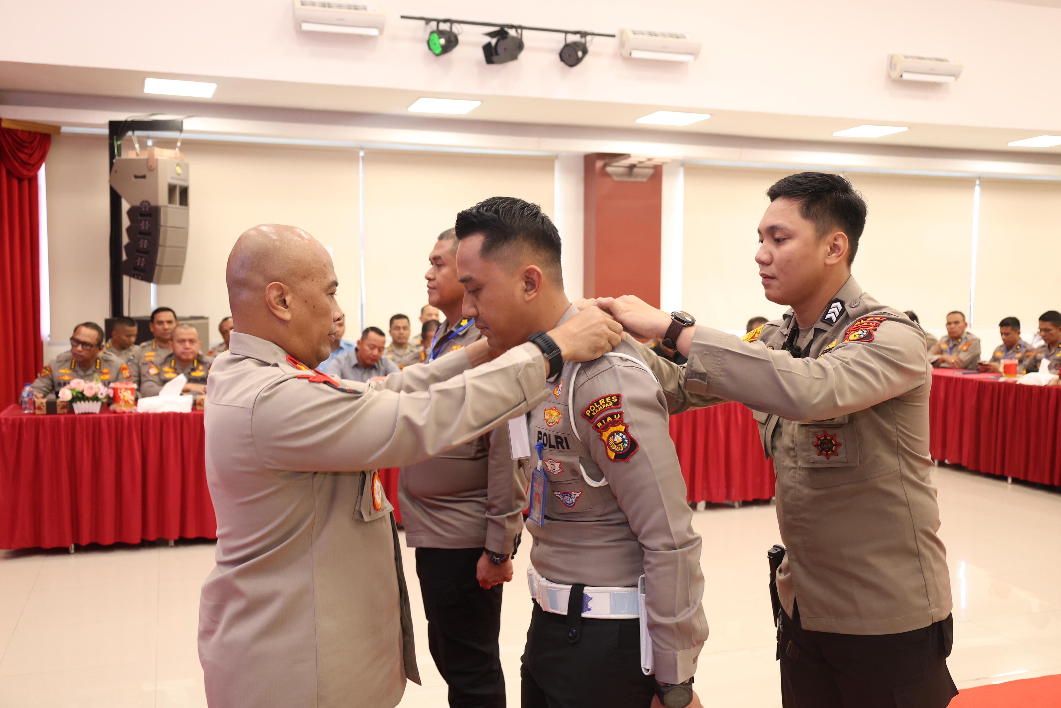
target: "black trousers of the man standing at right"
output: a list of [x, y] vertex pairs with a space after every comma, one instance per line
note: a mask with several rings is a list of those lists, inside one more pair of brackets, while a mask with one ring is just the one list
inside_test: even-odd
[[893, 635], [804, 629], [781, 610], [784, 708], [944, 708], [958, 694], [946, 657], [954, 620]]

